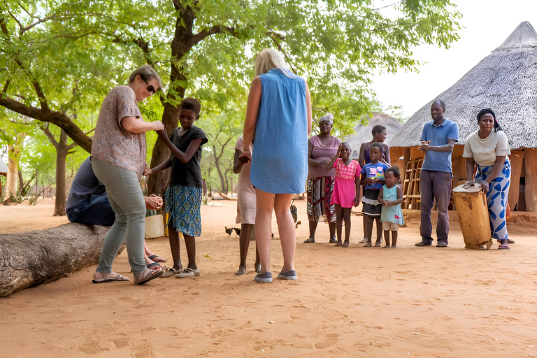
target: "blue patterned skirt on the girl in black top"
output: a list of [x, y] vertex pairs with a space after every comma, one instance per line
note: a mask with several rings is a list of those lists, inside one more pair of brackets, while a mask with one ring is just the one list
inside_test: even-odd
[[171, 223], [178, 232], [188, 236], [201, 235], [201, 189], [174, 185], [164, 194], [164, 210], [170, 215]]

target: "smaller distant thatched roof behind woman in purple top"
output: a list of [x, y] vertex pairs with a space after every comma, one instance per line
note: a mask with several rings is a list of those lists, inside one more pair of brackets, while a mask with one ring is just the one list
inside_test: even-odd
[[351, 136], [346, 140], [352, 149], [352, 153], [350, 155], [352, 159], [358, 159], [361, 143], [371, 141], [373, 138], [373, 136], [371, 136], [371, 129], [373, 129], [373, 127], [375, 127], [377, 124], [386, 127], [387, 136], [385, 143], [387, 145], [389, 145], [390, 140], [393, 140], [394, 135], [399, 131], [399, 129], [401, 129], [401, 126], [403, 125], [401, 122], [399, 122], [399, 120], [385, 113], [374, 112], [372, 115], [373, 117], [371, 117], [366, 126], [364, 126], [364, 124], [357, 124], [355, 127], [355, 136]]

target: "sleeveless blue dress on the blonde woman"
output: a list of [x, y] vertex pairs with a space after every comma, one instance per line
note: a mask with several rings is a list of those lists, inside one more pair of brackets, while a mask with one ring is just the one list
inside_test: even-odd
[[261, 103], [255, 127], [250, 180], [272, 194], [296, 194], [308, 178], [306, 82], [282, 69], [260, 75]]

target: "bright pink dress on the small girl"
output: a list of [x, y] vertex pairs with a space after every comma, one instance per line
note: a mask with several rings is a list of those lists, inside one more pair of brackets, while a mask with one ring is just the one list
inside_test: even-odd
[[360, 176], [360, 164], [352, 160], [349, 165], [345, 165], [343, 159], [338, 158], [334, 168], [336, 168], [336, 182], [332, 192], [332, 203], [341, 205], [342, 208], [352, 208], [355, 205], [355, 180]]

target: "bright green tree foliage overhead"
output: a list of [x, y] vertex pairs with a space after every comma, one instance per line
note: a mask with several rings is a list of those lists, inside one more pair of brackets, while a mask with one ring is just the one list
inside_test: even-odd
[[[126, 84], [133, 69], [150, 63], [165, 86], [163, 93], [141, 106], [145, 119], [169, 120], [173, 113], [166, 117], [162, 103], [171, 113], [183, 94], [201, 99], [199, 127], [210, 138], [204, 150], [205, 172], [211, 154], [214, 162], [217, 145], [241, 132], [253, 58], [259, 50], [280, 50], [292, 70], [306, 78], [314, 117], [334, 113], [334, 129], [345, 136], [376, 106], [368, 90], [373, 73], [414, 71], [420, 64], [412, 57], [415, 46], [434, 43], [447, 48], [458, 38], [460, 14], [450, 0], [389, 1], [375, 8], [376, 4], [1, 0], [1, 96], [63, 113], [90, 133], [106, 93]], [[13, 115], [0, 110], [1, 117]], [[43, 165], [48, 173], [48, 149], [38, 148], [37, 132], [31, 136], [36, 157], [24, 157], [25, 165]], [[156, 138], [148, 133], [148, 161]], [[234, 144], [234, 139], [228, 143]], [[232, 148], [224, 148], [223, 166], [232, 159]], [[84, 156], [68, 159], [68, 166], [76, 166]], [[213, 172], [210, 178], [213, 174], [216, 178]]]

